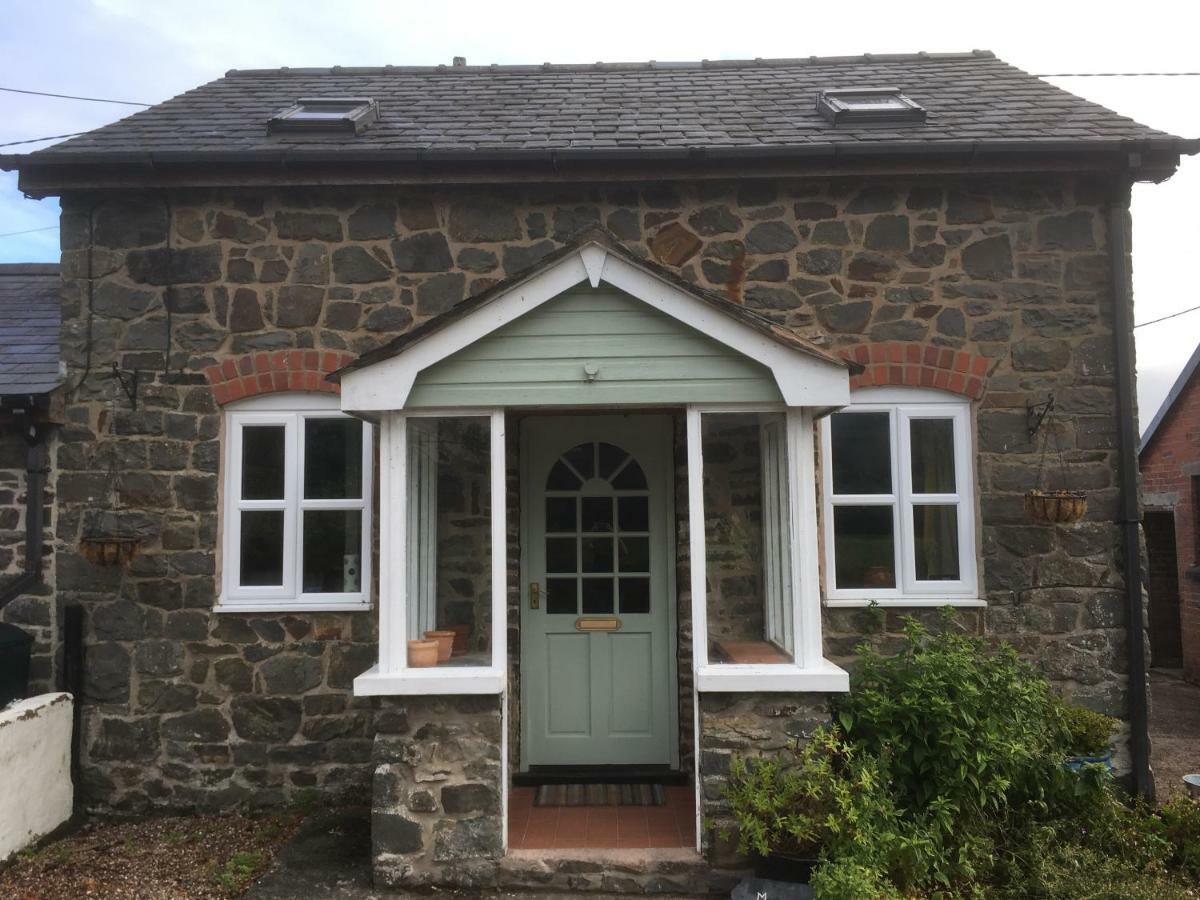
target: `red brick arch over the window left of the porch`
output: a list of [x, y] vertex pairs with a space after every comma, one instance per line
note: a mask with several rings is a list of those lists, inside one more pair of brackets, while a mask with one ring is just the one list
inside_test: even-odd
[[212, 396], [224, 406], [244, 397], [278, 391], [320, 391], [340, 394], [341, 385], [325, 376], [354, 360], [353, 353], [332, 350], [272, 350], [230, 356], [209, 366], [204, 374]]

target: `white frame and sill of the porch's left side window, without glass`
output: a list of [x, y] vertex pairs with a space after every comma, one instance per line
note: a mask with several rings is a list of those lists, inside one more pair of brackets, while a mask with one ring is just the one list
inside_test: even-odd
[[[410, 601], [422, 595], [408, 565], [409, 419], [486, 419], [491, 431], [491, 662], [486, 666], [408, 667]], [[385, 515], [379, 522], [379, 661], [354, 679], [358, 696], [426, 694], [503, 694], [508, 679], [508, 485], [504, 452], [504, 409], [455, 408], [386, 413], [380, 419], [379, 493]], [[436, 469], [428, 468], [426, 473]], [[422, 504], [422, 498], [415, 498]], [[427, 499], [427, 498], [426, 498]], [[422, 560], [426, 565], [436, 560]]]

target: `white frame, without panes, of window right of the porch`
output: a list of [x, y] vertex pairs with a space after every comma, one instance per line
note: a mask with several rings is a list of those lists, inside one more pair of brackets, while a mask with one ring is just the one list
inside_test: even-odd
[[[974, 511], [976, 478], [971, 402], [926, 388], [864, 388], [851, 395], [840, 414], [887, 413], [890, 439], [892, 493], [834, 494], [832, 425], [821, 428], [822, 510], [824, 526], [826, 606], [985, 606], [979, 596], [978, 540]], [[910, 422], [949, 419], [954, 424], [954, 493], [914, 494]], [[959, 580], [918, 581], [912, 510], [919, 505], [958, 506]], [[892, 506], [895, 535], [894, 588], [839, 588], [833, 514], [836, 506]]]

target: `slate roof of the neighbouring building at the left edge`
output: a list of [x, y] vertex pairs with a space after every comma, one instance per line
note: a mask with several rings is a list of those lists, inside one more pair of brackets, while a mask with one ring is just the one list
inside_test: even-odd
[[0, 264], [0, 395], [58, 386], [60, 305], [58, 265]]

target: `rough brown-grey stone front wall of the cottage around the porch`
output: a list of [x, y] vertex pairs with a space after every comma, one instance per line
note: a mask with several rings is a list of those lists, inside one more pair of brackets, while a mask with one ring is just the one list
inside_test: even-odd
[[[1067, 175], [247, 188], [100, 198], [92, 214], [92, 199], [64, 198], [64, 358], [67, 383], [83, 380], [66, 397], [55, 467], [55, 568], [61, 602], [88, 612], [89, 804], [218, 808], [308, 790], [366, 794], [384, 712], [353, 698], [350, 683], [374, 660], [376, 614], [212, 612], [222, 425], [203, 373], [245, 354], [371, 349], [593, 224], [835, 352], [887, 343], [986, 360], [973, 377], [983, 382], [974, 416], [989, 606], [965, 619], [1014, 641], [1080, 701], [1122, 713], [1105, 202], [1102, 185]], [[107, 377], [113, 362], [142, 372], [137, 409]], [[944, 386], [955, 389], [949, 376]], [[960, 390], [978, 396], [966, 379]], [[1021, 506], [1038, 460], [1025, 407], [1050, 391], [1073, 485], [1090, 492], [1075, 527], [1031, 526]], [[515, 428], [510, 446], [514, 438]], [[121, 473], [119, 509], [109, 509], [110, 463]], [[140, 535], [127, 569], [80, 556], [97, 515]], [[685, 515], [677, 529], [686, 734]], [[515, 532], [514, 523], [510, 559]], [[509, 577], [515, 653], [515, 566]], [[880, 640], [894, 635], [898, 616], [888, 612]], [[870, 630], [854, 610], [828, 611], [826, 622], [835, 659]], [[510, 710], [518, 688], [514, 667]], [[726, 702], [704, 698], [710, 736]], [[775, 701], [736, 701], [758, 702]], [[773, 727], [763, 726], [762, 740], [751, 728], [751, 744], [774, 745]], [[701, 752], [708, 749], [702, 737]], [[714, 770], [706, 764], [706, 773]], [[473, 814], [420, 815], [433, 840], [422, 846], [436, 847], [434, 820], [456, 827]]]

